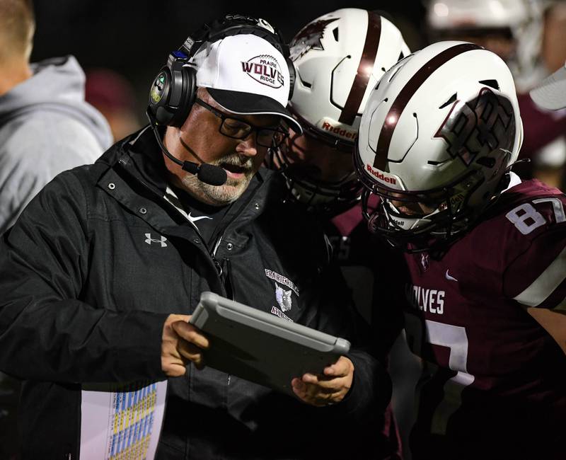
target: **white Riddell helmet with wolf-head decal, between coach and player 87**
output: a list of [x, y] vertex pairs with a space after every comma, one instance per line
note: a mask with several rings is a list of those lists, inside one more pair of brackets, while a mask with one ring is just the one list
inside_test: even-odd
[[[336, 155], [351, 155], [371, 88], [409, 53], [398, 28], [371, 11], [343, 8], [308, 23], [290, 43], [296, 83], [289, 109], [305, 135], [335, 147]], [[353, 166], [340, 180], [316, 180], [291, 165], [285, 146], [272, 153], [294, 200], [327, 210], [359, 200]]]

